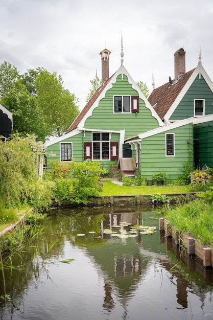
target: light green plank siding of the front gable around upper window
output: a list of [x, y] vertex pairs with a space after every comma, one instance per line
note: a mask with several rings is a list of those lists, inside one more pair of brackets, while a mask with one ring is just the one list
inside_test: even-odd
[[85, 121], [84, 127], [102, 130], [123, 130], [125, 139], [138, 133], [159, 127], [156, 118], [152, 117], [151, 111], [145, 106], [144, 100], [139, 99], [138, 113], [113, 113], [113, 96], [138, 96], [136, 90], [129, 84], [124, 75], [117, 77], [112, 88], [107, 90], [106, 95], [100, 100], [99, 106], [94, 108], [92, 115]]

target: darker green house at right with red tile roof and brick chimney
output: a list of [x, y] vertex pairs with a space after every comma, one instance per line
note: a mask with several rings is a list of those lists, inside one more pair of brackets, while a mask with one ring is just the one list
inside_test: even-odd
[[[154, 88], [148, 100], [165, 124], [193, 119], [194, 166], [213, 167], [213, 84], [201, 63], [185, 73], [185, 51], [174, 54], [175, 77]], [[188, 139], [186, 139], [188, 140]], [[192, 149], [192, 148], [190, 148]]]

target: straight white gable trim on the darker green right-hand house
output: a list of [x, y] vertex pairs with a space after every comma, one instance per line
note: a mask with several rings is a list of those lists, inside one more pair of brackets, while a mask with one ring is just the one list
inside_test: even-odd
[[206, 71], [204, 70], [202, 64], [198, 63], [198, 65], [195, 68], [195, 70], [194, 70], [193, 74], [191, 75], [190, 79], [188, 79], [188, 81], [184, 85], [183, 89], [181, 90], [181, 92], [179, 93], [179, 95], [177, 96], [177, 98], [175, 99], [173, 104], [171, 105], [170, 109], [167, 111], [167, 113], [165, 113], [165, 116], [164, 116], [164, 120], [165, 121], [169, 122], [169, 119], [172, 116], [173, 112], [175, 111], [175, 109], [177, 108], [178, 104], [183, 99], [184, 95], [187, 93], [187, 91], [190, 88], [190, 86], [195, 81], [197, 75], [199, 75], [199, 74], [201, 74], [203, 76], [203, 78], [206, 81], [206, 83], [208, 84], [211, 92], [213, 93], [213, 83], [211, 82], [211, 79], [207, 75]]

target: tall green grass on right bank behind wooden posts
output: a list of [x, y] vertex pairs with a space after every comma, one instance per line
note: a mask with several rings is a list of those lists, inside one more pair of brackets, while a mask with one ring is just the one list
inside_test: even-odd
[[179, 232], [186, 232], [213, 248], [212, 211], [213, 204], [200, 199], [169, 209], [165, 218]]

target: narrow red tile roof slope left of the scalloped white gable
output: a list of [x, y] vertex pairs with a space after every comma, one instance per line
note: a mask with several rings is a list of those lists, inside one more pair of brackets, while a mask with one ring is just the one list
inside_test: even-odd
[[87, 104], [85, 105], [85, 107], [82, 109], [82, 111], [79, 113], [78, 117], [74, 120], [74, 122], [72, 123], [72, 125], [70, 125], [70, 127], [68, 128], [68, 130], [66, 131], [66, 133], [76, 129], [79, 125], [79, 123], [81, 122], [81, 120], [84, 118], [84, 116], [86, 115], [86, 113], [89, 111], [89, 109], [91, 108], [91, 106], [93, 105], [93, 103], [98, 99], [98, 97], [100, 96], [100, 94], [103, 92], [104, 88], [106, 87], [106, 85], [109, 83], [109, 81], [111, 80], [111, 78], [113, 77], [113, 75], [104, 83], [103, 86], [101, 86], [100, 88], [98, 88], [96, 90], [96, 92], [92, 95], [92, 97], [89, 99], [89, 101], [87, 102]]

